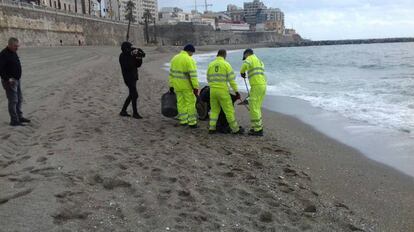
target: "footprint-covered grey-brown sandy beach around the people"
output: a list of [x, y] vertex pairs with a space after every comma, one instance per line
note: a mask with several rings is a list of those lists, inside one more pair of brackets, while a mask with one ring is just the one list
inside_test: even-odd
[[[20, 51], [33, 123], [8, 126], [2, 91], [1, 232], [414, 231], [412, 177], [295, 118], [265, 111], [251, 138], [162, 117], [176, 49], [145, 50], [142, 120], [118, 116], [119, 48]], [[245, 108], [237, 117], [248, 127]]]

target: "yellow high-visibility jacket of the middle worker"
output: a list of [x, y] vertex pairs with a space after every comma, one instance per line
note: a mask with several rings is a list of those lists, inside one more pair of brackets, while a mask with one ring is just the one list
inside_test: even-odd
[[230, 63], [223, 57], [217, 57], [208, 65], [207, 81], [210, 88], [229, 90], [229, 84], [237, 92], [236, 76]]

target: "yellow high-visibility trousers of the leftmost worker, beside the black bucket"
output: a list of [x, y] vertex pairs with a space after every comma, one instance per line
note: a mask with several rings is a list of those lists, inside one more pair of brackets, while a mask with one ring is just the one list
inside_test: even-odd
[[197, 124], [197, 98], [192, 90], [176, 91], [177, 95], [177, 110], [178, 120], [181, 125], [196, 125]]

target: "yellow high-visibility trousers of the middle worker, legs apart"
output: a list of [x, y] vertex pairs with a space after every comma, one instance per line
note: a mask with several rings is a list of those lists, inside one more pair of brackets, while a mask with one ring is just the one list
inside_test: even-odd
[[239, 131], [233, 101], [228, 90], [210, 88], [210, 107], [210, 130], [216, 130], [218, 116], [223, 109], [231, 131], [233, 133]]

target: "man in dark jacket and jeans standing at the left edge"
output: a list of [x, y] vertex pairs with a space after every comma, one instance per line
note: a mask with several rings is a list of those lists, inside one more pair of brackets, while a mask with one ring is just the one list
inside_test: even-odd
[[10, 38], [7, 47], [0, 53], [1, 84], [4, 90], [6, 90], [9, 101], [8, 108], [11, 126], [24, 126], [22, 123], [30, 122], [29, 119], [23, 117], [22, 113], [23, 96], [20, 87], [22, 66], [17, 55], [18, 48], [19, 40]]

